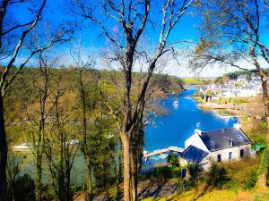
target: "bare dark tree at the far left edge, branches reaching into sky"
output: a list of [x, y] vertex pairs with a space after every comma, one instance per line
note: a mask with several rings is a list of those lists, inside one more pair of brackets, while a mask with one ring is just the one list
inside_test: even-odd
[[[39, 4], [33, 4], [31, 1], [13, 1], [3, 0], [0, 4], [0, 61], [7, 64], [1, 72], [0, 79], [0, 200], [7, 200], [6, 192], [6, 161], [7, 161], [7, 143], [6, 132], [4, 126], [4, 96], [6, 91], [10, 89], [13, 80], [22, 71], [22, 68], [30, 61], [32, 56], [40, 51], [47, 49], [56, 42], [62, 41], [63, 32], [57, 32], [42, 46], [35, 46], [23, 54], [25, 58], [22, 63], [19, 63], [16, 71], [11, 73], [11, 68], [16, 61], [18, 55], [24, 49], [27, 40], [30, 38], [30, 33], [37, 27], [42, 18], [42, 12], [47, 1], [40, 1]], [[30, 11], [32, 17], [28, 22], [20, 24], [10, 16], [14, 6], [25, 5], [31, 6]], [[16, 63], [17, 64], [17, 63]]]

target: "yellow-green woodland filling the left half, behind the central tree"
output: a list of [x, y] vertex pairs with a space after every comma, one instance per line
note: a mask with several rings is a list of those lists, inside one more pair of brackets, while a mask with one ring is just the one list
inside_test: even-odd
[[[13, 66], [11, 73], [16, 70]], [[134, 75], [135, 88], [143, 76]], [[7, 166], [11, 200], [34, 200], [37, 181], [45, 188], [42, 200], [72, 200], [86, 184], [93, 195], [122, 181], [120, 139], [108, 108], [108, 103], [120, 103], [117, 95], [123, 88], [122, 78], [120, 71], [54, 67], [43, 62], [21, 71], [4, 100], [8, 105], [5, 128], [11, 152]], [[177, 77], [153, 74], [149, 88], [154, 93], [146, 110], [163, 113], [154, 99], [180, 91], [181, 86]], [[139, 168], [143, 128], [150, 118], [146, 113], [139, 128], [142, 137], [135, 142], [141, 147], [134, 153], [140, 158], [136, 161]], [[13, 147], [22, 143], [28, 144], [29, 153], [13, 152]]]

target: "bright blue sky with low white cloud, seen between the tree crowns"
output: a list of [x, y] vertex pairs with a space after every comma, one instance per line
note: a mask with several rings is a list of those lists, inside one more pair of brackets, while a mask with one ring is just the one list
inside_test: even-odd
[[[50, 21], [51, 25], [56, 25], [61, 21], [74, 21], [80, 20], [77, 16], [73, 15], [68, 10], [68, 5], [66, 4], [65, 0], [48, 0], [48, 4], [45, 7], [43, 18], [46, 21]], [[153, 7], [154, 5], [152, 5]], [[160, 20], [160, 14], [154, 13], [152, 10], [152, 19], [154, 21]], [[17, 20], [20, 22], [28, 21], [30, 19], [30, 13], [26, 10], [25, 7], [17, 7], [13, 14], [18, 16]], [[182, 19], [178, 22], [177, 26], [173, 29], [169, 36], [169, 41], [178, 41], [178, 40], [191, 40], [191, 41], [198, 41], [199, 40], [199, 31], [197, 29], [199, 23], [201, 22], [201, 15], [194, 14], [194, 9], [190, 9], [187, 14], [185, 14]], [[84, 50], [84, 56], [87, 56], [89, 53], [94, 53], [96, 58], [99, 58], [99, 54], [101, 54], [100, 50], [109, 48], [107, 46], [107, 39], [103, 36], [100, 36], [100, 29], [96, 26], [89, 26], [89, 23], [83, 23], [82, 29], [76, 31], [74, 33], [74, 41], [72, 42], [72, 46], [74, 44], [76, 46], [82, 46]], [[150, 24], [146, 25], [146, 31], [143, 33], [143, 43], [152, 46], [155, 41], [158, 41], [159, 36], [159, 29], [153, 29]], [[158, 27], [158, 26], [157, 26]], [[180, 44], [178, 45], [181, 49], [189, 48], [189, 44]], [[60, 45], [56, 47], [58, 54], [61, 54], [63, 58], [61, 63], [65, 63], [68, 65], [71, 62], [71, 58], [69, 56], [69, 44]], [[17, 60], [17, 63], [24, 59], [24, 55], [20, 54]], [[228, 71], [237, 71], [236, 68], [230, 68], [228, 66], [223, 67], [219, 64], [213, 64], [212, 66], [208, 66], [204, 68], [204, 70], [199, 72], [193, 72], [190, 69], [187, 69], [187, 58], [180, 58], [182, 61], [178, 66], [178, 63], [171, 60], [167, 64], [164, 72], [176, 75], [178, 77], [217, 77], [221, 76], [223, 73]], [[100, 66], [102, 65], [101, 62], [97, 62]], [[262, 61], [262, 66], [266, 63]], [[32, 64], [32, 63], [30, 63]], [[243, 61], [239, 61], [239, 64], [246, 67], [251, 68], [248, 63], [244, 63]]]

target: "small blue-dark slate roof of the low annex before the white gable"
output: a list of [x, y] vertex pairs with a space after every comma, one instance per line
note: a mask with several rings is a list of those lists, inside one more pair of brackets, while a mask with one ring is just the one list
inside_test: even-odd
[[182, 153], [181, 156], [185, 158], [188, 162], [200, 163], [206, 155], [208, 155], [208, 153], [203, 151], [202, 149], [194, 146], [189, 146]]

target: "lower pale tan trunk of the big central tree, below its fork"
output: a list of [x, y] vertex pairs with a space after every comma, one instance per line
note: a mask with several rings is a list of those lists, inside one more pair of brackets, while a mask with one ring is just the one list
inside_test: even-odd
[[124, 200], [130, 201], [130, 138], [127, 133], [122, 134], [122, 144], [124, 151]]

